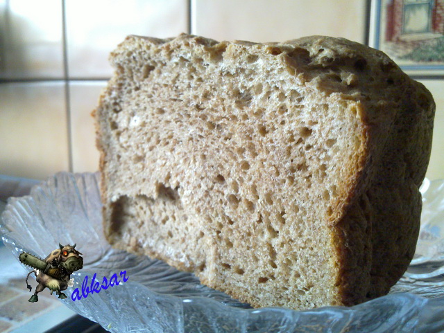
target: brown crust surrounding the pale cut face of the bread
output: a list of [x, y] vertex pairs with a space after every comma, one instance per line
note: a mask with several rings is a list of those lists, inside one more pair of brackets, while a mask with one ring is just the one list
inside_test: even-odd
[[[330, 103], [330, 107], [343, 107], [344, 112], [352, 112], [358, 119], [356, 140], [359, 147], [354, 150], [350, 163], [344, 161], [345, 164], [349, 163], [346, 164], [348, 176], [336, 186], [336, 196], [329, 201], [331, 214], [325, 219], [325, 230], [330, 237], [327, 243], [334, 249], [330, 259], [325, 258], [326, 261], [330, 260], [332, 271], [332, 276], [326, 278], [330, 285], [325, 287], [332, 290], [328, 300], [305, 305], [296, 300], [281, 304], [279, 298], [270, 296], [269, 289], [268, 296], [257, 296], [248, 289], [248, 286], [253, 287], [251, 282], [236, 285], [236, 274], [227, 278], [221, 273], [220, 263], [225, 260], [221, 251], [225, 249], [221, 249], [217, 233], [205, 235], [204, 240], [199, 241], [201, 249], [196, 251], [202, 252], [198, 252], [195, 258], [191, 252], [182, 253], [178, 258], [178, 255], [171, 255], [166, 247], [141, 246], [139, 241], [131, 244], [128, 235], [123, 241], [123, 236], [114, 230], [120, 228], [120, 224], [117, 227], [112, 224], [112, 212], [120, 208], [116, 208], [117, 201], [113, 200], [114, 193], [110, 192], [117, 181], [117, 173], [114, 170], [114, 174], [110, 172], [109, 165], [114, 163], [114, 153], [111, 152], [114, 148], [110, 146], [112, 136], [108, 133], [109, 125], [105, 123], [113, 107], [125, 107], [123, 102], [114, 102], [114, 105], [110, 101], [115, 91], [120, 89], [122, 80], [130, 80], [125, 77], [128, 75], [126, 72], [123, 74], [123, 63], [138, 50], [151, 52], [154, 49], [153, 54], [170, 54], [180, 48], [187, 50], [184, 56], [187, 53], [198, 54], [208, 64], [221, 62], [221, 59], [229, 56], [233, 57], [231, 61], [234, 62], [237, 53], [256, 58], [265, 57], [263, 54], [280, 56], [287, 71], [302, 82], [306, 87], [304, 89], [318, 91], [323, 95], [323, 100]], [[429, 161], [435, 106], [427, 89], [402, 73], [384, 53], [346, 39], [323, 36], [304, 37], [282, 44], [257, 44], [244, 41], [219, 43], [182, 34], [175, 39], [128, 36], [112, 53], [111, 61], [117, 72], [102, 94], [93, 116], [96, 118], [97, 147], [101, 152], [104, 230], [108, 242], [114, 247], [150, 255], [182, 271], [193, 271], [203, 284], [225, 291], [255, 307], [283, 305], [300, 309], [322, 305], [355, 305], [386, 294], [402, 276], [413, 258], [418, 238], [421, 210], [418, 188]], [[334, 83], [336, 79], [341, 84]], [[372, 83], [372, 80], [385, 81]], [[311, 95], [308, 93], [307, 96]], [[148, 185], [157, 186], [154, 192], [158, 194], [159, 184], [156, 184]], [[176, 194], [181, 190], [177, 192], [177, 188], [171, 186]], [[137, 197], [128, 195], [129, 200]], [[173, 199], [176, 200], [176, 197]], [[158, 199], [139, 197], [137, 200], [139, 204], [148, 203], [150, 206]], [[237, 202], [237, 199], [233, 200]], [[171, 209], [187, 204], [179, 201], [174, 201]], [[166, 202], [162, 201], [162, 204], [168, 204]], [[121, 220], [130, 215], [120, 210], [119, 214]], [[200, 213], [196, 216], [203, 215]], [[215, 230], [213, 226], [200, 228], [210, 235]], [[279, 257], [280, 253], [277, 255]]]

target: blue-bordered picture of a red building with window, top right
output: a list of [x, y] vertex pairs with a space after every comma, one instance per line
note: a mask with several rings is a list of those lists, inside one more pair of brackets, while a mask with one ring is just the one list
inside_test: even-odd
[[409, 75], [444, 75], [444, 0], [372, 0], [369, 44]]

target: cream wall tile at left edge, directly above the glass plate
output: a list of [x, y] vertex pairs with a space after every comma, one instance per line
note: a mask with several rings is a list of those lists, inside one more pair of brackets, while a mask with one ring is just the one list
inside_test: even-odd
[[64, 82], [2, 83], [0, 103], [0, 174], [69, 170]]

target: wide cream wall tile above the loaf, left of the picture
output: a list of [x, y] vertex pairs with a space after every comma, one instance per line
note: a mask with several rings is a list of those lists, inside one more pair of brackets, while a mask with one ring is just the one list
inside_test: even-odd
[[329, 35], [364, 42], [366, 0], [191, 0], [191, 33], [283, 42]]

